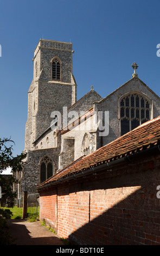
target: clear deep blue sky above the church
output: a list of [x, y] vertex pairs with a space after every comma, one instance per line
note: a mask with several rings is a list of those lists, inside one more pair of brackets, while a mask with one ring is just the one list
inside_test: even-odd
[[32, 58], [40, 38], [72, 42], [78, 99], [93, 85], [102, 97], [130, 80], [131, 64], [160, 96], [157, 0], [0, 0], [0, 136], [24, 149]]

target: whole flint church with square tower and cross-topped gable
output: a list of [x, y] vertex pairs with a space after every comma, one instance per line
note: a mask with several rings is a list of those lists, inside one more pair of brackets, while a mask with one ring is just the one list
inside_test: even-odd
[[37, 193], [37, 185], [160, 113], [159, 96], [139, 79], [136, 63], [111, 94], [92, 86], [77, 100], [73, 53], [72, 43], [54, 40], [40, 39], [35, 48], [18, 197]]

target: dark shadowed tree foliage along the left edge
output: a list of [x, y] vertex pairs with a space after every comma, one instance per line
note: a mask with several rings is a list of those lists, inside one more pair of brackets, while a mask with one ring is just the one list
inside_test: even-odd
[[[12, 191], [12, 185], [17, 183], [14, 173], [20, 172], [23, 169], [22, 160], [25, 157], [25, 154], [17, 155], [16, 157], [12, 154], [11, 139], [0, 138], [0, 186], [2, 187], [2, 194], [8, 199], [10, 207], [14, 206], [14, 199], [16, 193]], [[2, 175], [2, 172], [11, 169], [13, 175]], [[8, 233], [8, 225], [5, 219], [11, 218], [11, 211], [9, 209], [0, 209], [0, 245], [11, 245], [12, 240]]]

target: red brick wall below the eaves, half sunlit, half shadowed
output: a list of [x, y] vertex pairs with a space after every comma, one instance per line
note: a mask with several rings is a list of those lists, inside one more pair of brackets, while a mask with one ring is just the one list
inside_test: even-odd
[[150, 157], [39, 191], [40, 218], [80, 245], [160, 245], [159, 162]]

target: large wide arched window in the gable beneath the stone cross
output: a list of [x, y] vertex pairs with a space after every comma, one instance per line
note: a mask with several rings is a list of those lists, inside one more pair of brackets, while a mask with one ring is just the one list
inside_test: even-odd
[[121, 136], [151, 119], [151, 101], [137, 92], [121, 97], [119, 109]]

